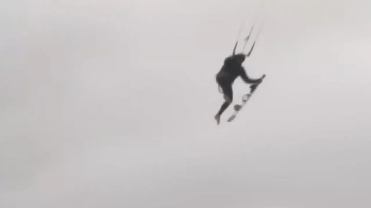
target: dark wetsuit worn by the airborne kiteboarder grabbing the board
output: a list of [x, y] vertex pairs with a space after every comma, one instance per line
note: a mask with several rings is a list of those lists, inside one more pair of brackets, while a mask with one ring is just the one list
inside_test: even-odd
[[[237, 77], [241, 77], [245, 83], [258, 84], [261, 79], [251, 79], [247, 76], [246, 71], [239, 61], [236, 60], [236, 56], [229, 56], [224, 60], [224, 65], [221, 67], [219, 73], [216, 75], [216, 82], [223, 90], [223, 94], [227, 95], [229, 99], [233, 100], [232, 84]], [[219, 110], [219, 115], [225, 111], [229, 102], [225, 101]]]

